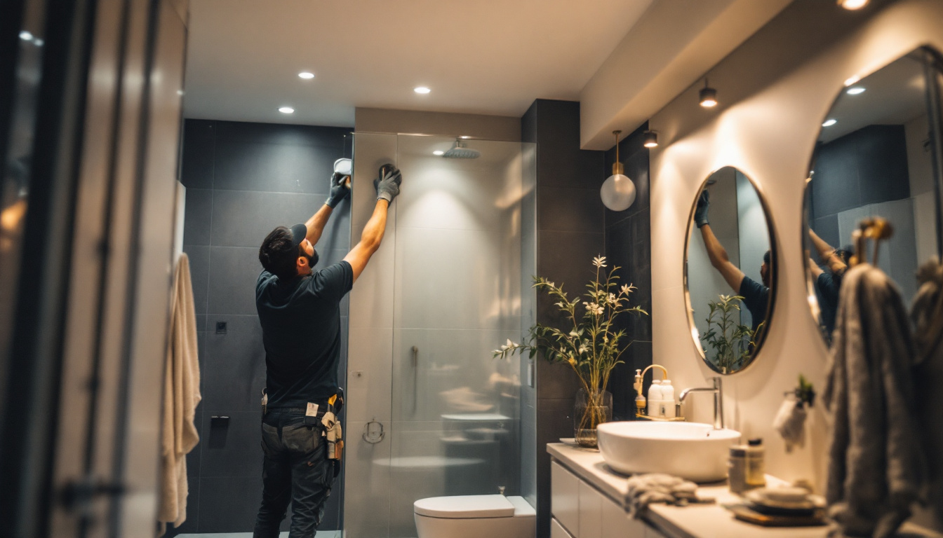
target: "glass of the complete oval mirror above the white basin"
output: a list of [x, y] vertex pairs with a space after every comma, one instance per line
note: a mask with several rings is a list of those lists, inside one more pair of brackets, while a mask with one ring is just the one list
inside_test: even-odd
[[688, 321], [708, 367], [750, 366], [772, 318], [775, 253], [767, 204], [753, 181], [725, 167], [703, 183], [688, 224]]

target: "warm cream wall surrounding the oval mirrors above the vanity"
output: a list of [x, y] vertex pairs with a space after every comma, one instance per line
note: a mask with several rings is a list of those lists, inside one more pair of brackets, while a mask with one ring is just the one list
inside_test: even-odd
[[[943, 3], [901, 0], [867, 14], [798, 0], [708, 73], [719, 90], [717, 109], [698, 106], [692, 87], [650, 122], [662, 141], [651, 154], [652, 244], [658, 246], [652, 256], [654, 362], [668, 367], [681, 388], [707, 384], [715, 375], [698, 358], [687, 326], [683, 249], [703, 178], [735, 166], [769, 201], [781, 271], [766, 344], [753, 366], [724, 378], [728, 424], [764, 438], [770, 473], [819, 485], [827, 464], [821, 405], [809, 418], [806, 447], [792, 454], [770, 426], [800, 373], [819, 390], [824, 383], [826, 349], [809, 313], [802, 260], [804, 178], [822, 118], [844, 80], [924, 43], [943, 50]], [[686, 414], [709, 421], [709, 397], [692, 399]]]

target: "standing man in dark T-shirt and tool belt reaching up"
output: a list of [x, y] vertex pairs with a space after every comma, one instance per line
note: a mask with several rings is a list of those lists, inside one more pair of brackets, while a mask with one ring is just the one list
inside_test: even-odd
[[377, 198], [372, 217], [339, 263], [314, 270], [314, 245], [334, 206], [350, 194], [346, 177], [338, 173], [313, 217], [275, 228], [258, 249], [264, 270], [256, 282], [256, 310], [265, 346], [267, 403], [262, 415], [262, 504], [254, 538], [278, 537], [289, 502], [291, 538], [314, 536], [321, 525], [338, 470], [328, 459], [321, 418], [339, 393], [340, 300], [380, 248], [387, 208], [402, 181], [392, 165], [380, 170], [382, 179], [373, 182]]

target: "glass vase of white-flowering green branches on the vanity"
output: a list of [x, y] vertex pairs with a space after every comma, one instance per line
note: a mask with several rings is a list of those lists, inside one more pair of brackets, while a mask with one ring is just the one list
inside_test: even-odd
[[[639, 306], [629, 306], [629, 295], [636, 286], [629, 284], [617, 288], [619, 276], [615, 272], [618, 267], [606, 273], [604, 256], [596, 256], [592, 264], [596, 277], [587, 284], [587, 291], [583, 294], [586, 300], [582, 302], [581, 297], [571, 301], [562, 284], [557, 286], [542, 277], [534, 279], [534, 287], [557, 300], [554, 306], [572, 325], [571, 331], [537, 323], [530, 328], [523, 343], [507, 340], [500, 350], [494, 351], [494, 356], [501, 358], [524, 351], [533, 358], [540, 352], [552, 363], [570, 365], [582, 385], [576, 395], [573, 436], [583, 447], [595, 447], [596, 426], [612, 419], [612, 394], [605, 387], [612, 369], [622, 364], [622, 352], [632, 344], [622, 345], [625, 331], [616, 331], [614, 322], [626, 312], [648, 315]], [[604, 280], [600, 280], [601, 276]]]

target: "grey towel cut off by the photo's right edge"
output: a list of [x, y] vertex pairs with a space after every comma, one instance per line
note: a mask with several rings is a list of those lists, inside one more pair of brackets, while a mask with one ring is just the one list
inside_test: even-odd
[[910, 318], [917, 345], [915, 384], [927, 455], [927, 504], [936, 525], [943, 526], [943, 265], [934, 257], [920, 267], [917, 280]]

